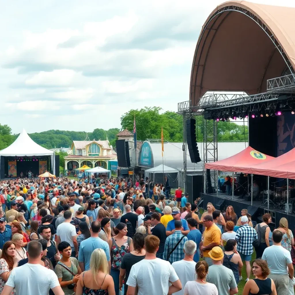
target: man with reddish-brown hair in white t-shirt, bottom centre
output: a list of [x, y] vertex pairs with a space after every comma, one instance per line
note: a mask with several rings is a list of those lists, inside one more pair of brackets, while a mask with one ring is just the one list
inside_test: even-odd
[[[181, 282], [168, 261], [156, 258], [160, 240], [154, 235], [145, 238], [145, 259], [135, 263], [127, 280], [127, 295], [163, 294], [181, 290]], [[172, 284], [169, 287], [169, 282]]]

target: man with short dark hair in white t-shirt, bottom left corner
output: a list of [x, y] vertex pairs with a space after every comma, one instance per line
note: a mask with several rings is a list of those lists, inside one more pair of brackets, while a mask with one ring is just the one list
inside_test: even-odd
[[43, 255], [40, 242], [29, 242], [27, 253], [28, 263], [11, 271], [1, 295], [10, 295], [14, 288], [16, 295], [48, 295], [49, 289], [52, 289], [55, 295], [63, 295], [64, 292], [54, 271], [40, 265]]

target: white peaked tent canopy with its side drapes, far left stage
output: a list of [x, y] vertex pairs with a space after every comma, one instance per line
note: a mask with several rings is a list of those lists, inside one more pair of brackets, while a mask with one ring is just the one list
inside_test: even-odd
[[[0, 169], [1, 178], [3, 178], [4, 171], [4, 157], [42, 157], [50, 156], [51, 171], [55, 174], [55, 154], [52, 150], [47, 150], [41, 145], [34, 142], [27, 132], [23, 129], [17, 139], [7, 148], [0, 151]], [[6, 158], [7, 159], [7, 158]]]

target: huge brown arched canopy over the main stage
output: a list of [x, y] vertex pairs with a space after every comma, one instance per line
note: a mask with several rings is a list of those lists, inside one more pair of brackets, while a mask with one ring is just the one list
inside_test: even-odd
[[212, 11], [196, 45], [190, 100], [207, 91], [266, 92], [267, 80], [294, 73], [295, 8], [228, 1]]

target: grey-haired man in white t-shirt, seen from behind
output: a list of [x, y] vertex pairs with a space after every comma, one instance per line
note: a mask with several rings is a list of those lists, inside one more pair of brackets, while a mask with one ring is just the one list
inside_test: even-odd
[[181, 281], [182, 289], [174, 295], [183, 295], [184, 294], [184, 286], [188, 281], [195, 280], [195, 267], [196, 262], [194, 262], [194, 255], [197, 250], [197, 244], [188, 240], [183, 245], [184, 258], [180, 261], [175, 261], [172, 263], [173, 268], [176, 271], [178, 278]]

